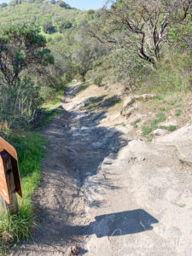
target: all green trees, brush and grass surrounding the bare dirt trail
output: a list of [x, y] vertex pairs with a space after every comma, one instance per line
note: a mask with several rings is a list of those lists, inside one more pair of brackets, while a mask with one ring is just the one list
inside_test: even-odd
[[[88, 11], [61, 0], [13, 0], [0, 6], [0, 134], [18, 149], [24, 189], [19, 215], [0, 221], [6, 245], [27, 237], [34, 223], [30, 196], [39, 183], [44, 142], [32, 129], [60, 113], [52, 108], [64, 86], [73, 79], [84, 82], [82, 90], [90, 85], [86, 80], [99, 86], [114, 82], [124, 84], [127, 93], [155, 92], [159, 98], [192, 90], [192, 1], [107, 2]], [[90, 103], [94, 108], [96, 102]], [[172, 106], [176, 116], [182, 115], [181, 104], [170, 100], [143, 125], [143, 136], [160, 128]], [[47, 112], [37, 125], [42, 107]], [[140, 121], [131, 125], [137, 128]]]

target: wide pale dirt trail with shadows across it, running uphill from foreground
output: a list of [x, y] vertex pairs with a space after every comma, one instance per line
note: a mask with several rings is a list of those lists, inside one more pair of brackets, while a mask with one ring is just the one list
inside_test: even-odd
[[[99, 125], [108, 105], [88, 109], [69, 87], [47, 125], [48, 154], [34, 201], [39, 227], [11, 255], [191, 255], [191, 170], [177, 148], [130, 141]], [[84, 106], [86, 108], [84, 108]]]

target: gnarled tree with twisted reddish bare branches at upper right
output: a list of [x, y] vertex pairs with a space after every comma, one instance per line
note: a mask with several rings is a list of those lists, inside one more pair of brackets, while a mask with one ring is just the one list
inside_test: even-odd
[[172, 16], [185, 20], [191, 0], [119, 0], [102, 10], [90, 28], [90, 35], [101, 43], [131, 49], [155, 66], [169, 42]]

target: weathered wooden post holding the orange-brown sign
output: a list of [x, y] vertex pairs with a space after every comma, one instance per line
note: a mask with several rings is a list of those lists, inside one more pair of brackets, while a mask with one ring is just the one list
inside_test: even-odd
[[11, 161], [11, 156], [6, 151], [0, 153], [3, 160], [4, 173], [6, 177], [7, 188], [9, 192], [9, 204], [1, 196], [3, 211], [9, 210], [10, 214], [17, 214], [19, 211], [18, 201], [16, 196], [14, 171]]

